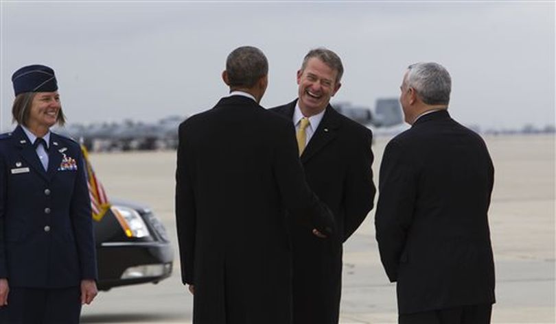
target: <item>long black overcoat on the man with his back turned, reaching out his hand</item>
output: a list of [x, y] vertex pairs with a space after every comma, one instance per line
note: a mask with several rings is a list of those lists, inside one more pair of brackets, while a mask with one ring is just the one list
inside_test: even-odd
[[333, 226], [304, 181], [292, 123], [235, 95], [182, 123], [179, 141], [176, 223], [194, 323], [291, 323], [285, 209]]

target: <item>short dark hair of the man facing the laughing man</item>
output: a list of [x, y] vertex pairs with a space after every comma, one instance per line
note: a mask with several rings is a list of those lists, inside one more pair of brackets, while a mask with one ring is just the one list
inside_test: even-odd
[[229, 86], [251, 88], [268, 74], [268, 61], [257, 47], [234, 49], [226, 60]]

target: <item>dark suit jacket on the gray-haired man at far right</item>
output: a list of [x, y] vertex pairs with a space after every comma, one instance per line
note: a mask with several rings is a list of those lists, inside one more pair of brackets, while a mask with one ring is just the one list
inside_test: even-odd
[[493, 183], [485, 142], [446, 110], [388, 143], [375, 225], [400, 314], [494, 303]]

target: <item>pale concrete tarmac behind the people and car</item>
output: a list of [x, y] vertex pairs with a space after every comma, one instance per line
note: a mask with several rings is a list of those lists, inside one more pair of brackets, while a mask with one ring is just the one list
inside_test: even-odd
[[[373, 146], [374, 181], [389, 138]], [[492, 323], [555, 323], [555, 137], [489, 136], [495, 186], [489, 210], [496, 261]], [[100, 292], [82, 323], [190, 323], [192, 296], [181, 284], [174, 223], [176, 153], [91, 153], [108, 197], [149, 205], [176, 247], [172, 277]], [[345, 244], [340, 323], [397, 323], [374, 238], [374, 210]], [[261, 323], [264, 324], [264, 323]]]

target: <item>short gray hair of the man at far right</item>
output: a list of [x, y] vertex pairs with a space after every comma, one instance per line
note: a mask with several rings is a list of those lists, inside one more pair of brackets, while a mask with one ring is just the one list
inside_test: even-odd
[[435, 62], [408, 66], [406, 86], [413, 88], [427, 105], [448, 105], [452, 78], [444, 66]]

